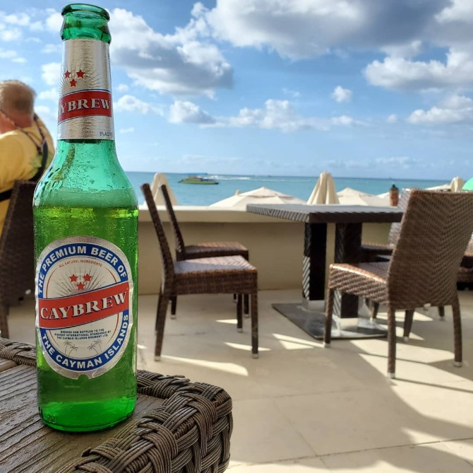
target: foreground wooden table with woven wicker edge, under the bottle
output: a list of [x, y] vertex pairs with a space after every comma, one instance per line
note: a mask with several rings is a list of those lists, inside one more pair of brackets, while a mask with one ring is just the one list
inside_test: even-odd
[[138, 370], [133, 416], [115, 428], [64, 433], [37, 413], [35, 348], [0, 338], [0, 471], [224, 472], [232, 399], [221, 387]]

